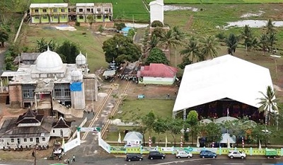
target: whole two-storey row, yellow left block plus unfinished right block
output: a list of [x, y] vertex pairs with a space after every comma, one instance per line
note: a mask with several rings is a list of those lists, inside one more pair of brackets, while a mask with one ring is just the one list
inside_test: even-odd
[[77, 3], [68, 4], [30, 4], [31, 23], [67, 23], [69, 21], [88, 22], [112, 21], [111, 3]]

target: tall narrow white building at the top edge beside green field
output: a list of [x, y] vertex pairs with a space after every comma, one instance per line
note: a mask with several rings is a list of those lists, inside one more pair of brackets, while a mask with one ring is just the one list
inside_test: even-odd
[[164, 4], [163, 0], [151, 1], [150, 6], [150, 19], [151, 23], [154, 21], [161, 21], [164, 24]]

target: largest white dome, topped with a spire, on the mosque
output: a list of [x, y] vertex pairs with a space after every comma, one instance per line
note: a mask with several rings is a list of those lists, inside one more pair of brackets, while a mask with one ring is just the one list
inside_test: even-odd
[[48, 47], [46, 52], [37, 57], [35, 67], [44, 72], [56, 71], [63, 67], [63, 62], [57, 52], [50, 51]]

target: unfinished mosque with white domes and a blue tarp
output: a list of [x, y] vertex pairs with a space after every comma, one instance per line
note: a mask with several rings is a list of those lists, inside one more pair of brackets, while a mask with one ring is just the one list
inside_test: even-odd
[[86, 100], [98, 100], [96, 75], [88, 73], [87, 59], [81, 52], [76, 64], [64, 64], [56, 52], [47, 48], [33, 64], [22, 62], [16, 72], [1, 74], [4, 78], [11, 108], [71, 118], [86, 108]]

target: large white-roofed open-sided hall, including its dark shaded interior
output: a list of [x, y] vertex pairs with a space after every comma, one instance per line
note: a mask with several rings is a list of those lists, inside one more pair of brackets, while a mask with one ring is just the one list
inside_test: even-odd
[[269, 69], [231, 55], [189, 64], [184, 70], [173, 116], [197, 110], [204, 117], [262, 119], [258, 98], [266, 93], [267, 86], [273, 86]]

